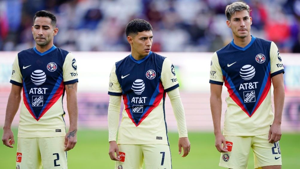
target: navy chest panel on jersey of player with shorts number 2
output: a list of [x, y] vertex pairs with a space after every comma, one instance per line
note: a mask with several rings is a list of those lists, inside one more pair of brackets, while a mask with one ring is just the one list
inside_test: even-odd
[[[23, 92], [28, 102], [26, 107], [36, 119], [41, 117], [45, 109], [50, 108], [51, 99], [61, 92], [62, 67], [68, 53], [59, 48], [45, 55], [39, 55], [33, 48], [18, 53], [19, 67], [23, 76]], [[62, 92], [64, 93], [64, 87]]]

